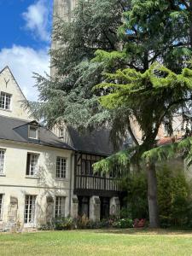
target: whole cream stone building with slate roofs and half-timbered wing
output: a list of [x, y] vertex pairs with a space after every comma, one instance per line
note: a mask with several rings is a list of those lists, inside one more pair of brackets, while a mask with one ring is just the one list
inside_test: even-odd
[[55, 134], [32, 119], [9, 67], [0, 73], [0, 230], [38, 227], [56, 217], [119, 215], [113, 173], [92, 164], [111, 154], [108, 132], [80, 136], [71, 127]]

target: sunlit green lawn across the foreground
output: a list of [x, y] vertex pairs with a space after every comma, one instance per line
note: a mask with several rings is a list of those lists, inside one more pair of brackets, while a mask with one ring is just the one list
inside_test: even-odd
[[192, 233], [132, 229], [1, 234], [0, 255], [192, 255]]

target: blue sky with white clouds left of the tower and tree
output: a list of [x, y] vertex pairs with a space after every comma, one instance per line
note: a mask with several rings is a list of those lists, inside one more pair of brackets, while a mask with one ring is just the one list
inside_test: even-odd
[[49, 73], [53, 0], [0, 0], [0, 70], [9, 66], [26, 98], [38, 100], [33, 73]]

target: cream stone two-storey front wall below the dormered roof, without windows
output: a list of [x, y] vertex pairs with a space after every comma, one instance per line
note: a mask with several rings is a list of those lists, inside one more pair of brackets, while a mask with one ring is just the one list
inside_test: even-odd
[[[2, 221], [4, 228], [9, 228], [9, 210], [11, 198], [18, 201], [15, 220], [21, 227], [39, 226], [47, 221], [49, 207], [47, 198], [53, 199], [55, 208], [55, 196], [65, 198], [65, 212], [67, 217], [70, 212], [70, 179], [73, 169], [73, 152], [57, 148], [23, 145], [22, 143], [4, 143], [0, 141], [0, 148], [5, 149], [3, 174], [0, 176], [0, 195], [3, 195]], [[38, 174], [36, 177], [26, 175], [26, 155], [35, 153], [38, 158]], [[56, 157], [61, 156], [67, 160], [66, 178], [56, 177]], [[32, 224], [24, 224], [25, 196], [35, 195], [35, 219]], [[64, 217], [63, 216], [63, 217]], [[52, 212], [55, 217], [55, 211]]]

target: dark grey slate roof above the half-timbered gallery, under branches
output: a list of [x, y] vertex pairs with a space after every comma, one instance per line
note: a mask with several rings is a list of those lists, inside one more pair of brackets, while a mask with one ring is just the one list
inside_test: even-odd
[[72, 127], [68, 127], [68, 131], [76, 150], [90, 154], [113, 154], [113, 145], [109, 141], [109, 131], [107, 129], [79, 133]]

